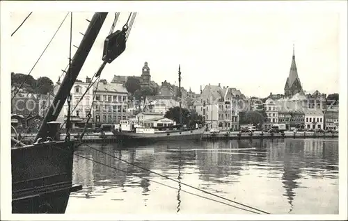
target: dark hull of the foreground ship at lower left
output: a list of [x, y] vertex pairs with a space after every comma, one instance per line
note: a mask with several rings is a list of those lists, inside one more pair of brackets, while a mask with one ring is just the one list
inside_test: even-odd
[[72, 142], [11, 149], [12, 213], [65, 213], [72, 185]]

